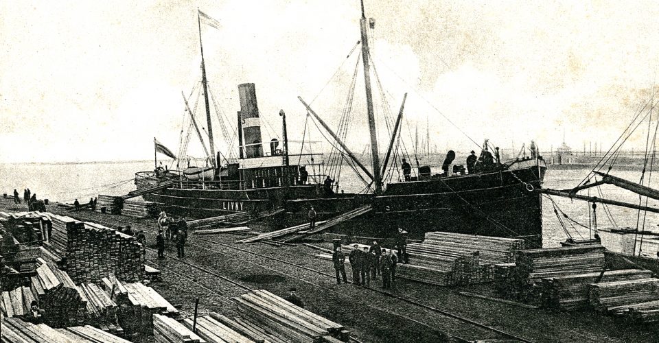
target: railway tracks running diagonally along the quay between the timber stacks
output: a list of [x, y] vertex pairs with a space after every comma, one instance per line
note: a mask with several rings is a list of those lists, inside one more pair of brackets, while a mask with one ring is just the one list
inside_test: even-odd
[[[141, 224], [141, 223], [137, 222], [137, 220], [128, 220], [128, 218], [118, 217], [118, 216], [113, 216], [112, 218], [106, 218], [106, 217], [104, 217], [102, 215], [98, 215], [96, 213], [93, 213], [93, 214], [92, 213], [84, 213], [84, 215], [81, 215], [81, 214], [82, 213], [73, 213], [73, 215], [78, 215], [83, 220], [95, 220], [95, 221], [99, 221], [99, 222], [105, 222], [104, 224], [106, 224], [106, 225], [108, 225], [108, 222], [113, 222], [113, 224], [116, 224], [116, 222], [122, 222], [124, 224], [130, 224], [131, 226], [137, 226], [139, 228], [146, 228], [147, 229], [146, 232], [149, 233], [150, 235], [155, 235], [157, 233], [157, 226]], [[112, 224], [110, 224], [110, 225], [112, 225]], [[239, 257], [238, 259], [240, 259], [241, 261], [244, 261], [246, 263], [250, 263], [252, 265], [255, 265], [257, 268], [264, 268], [265, 270], [268, 270], [268, 272], [275, 272], [277, 274], [283, 274], [284, 276], [287, 276], [287, 277], [292, 278], [292, 279], [296, 279], [299, 282], [308, 283], [312, 287], [322, 288], [324, 292], [327, 292], [327, 291], [334, 292], [334, 293], [337, 294], [337, 296], [345, 297], [345, 294], [340, 294], [340, 293], [336, 292], [334, 289], [328, 289], [327, 287], [325, 287], [323, 285], [320, 285], [319, 284], [320, 280], [318, 278], [314, 278], [314, 277], [312, 277], [312, 275], [310, 275], [310, 274], [316, 274], [316, 276], [322, 276], [323, 279], [328, 278], [328, 277], [330, 279], [334, 279], [335, 276], [333, 274], [328, 274], [328, 273], [323, 272], [321, 270], [316, 270], [314, 268], [310, 268], [310, 267], [307, 267], [305, 265], [300, 265], [300, 264], [297, 264], [297, 263], [292, 263], [290, 261], [285, 261], [285, 260], [279, 259], [277, 257], [264, 255], [260, 252], [254, 252], [254, 251], [251, 251], [251, 250], [248, 250], [248, 249], [245, 249], [245, 248], [239, 248], [239, 247], [236, 247], [236, 246], [232, 246], [230, 244], [224, 244], [220, 241], [214, 241], [213, 239], [205, 239], [205, 238], [202, 238], [202, 237], [194, 237], [192, 235], [190, 236], [190, 238], [192, 238], [192, 239], [188, 240], [189, 241], [188, 246], [196, 246], [196, 247], [201, 248], [203, 250], [213, 252], [213, 254], [215, 254], [214, 256], [218, 256], [218, 255], [228, 256], [228, 255], [231, 255], [231, 254], [229, 254], [229, 252], [227, 252], [227, 250], [220, 251], [220, 250], [217, 250], [216, 248], [213, 248], [213, 247], [227, 248], [227, 249], [238, 251], [242, 254], [251, 255], [251, 256], [255, 257], [257, 260], [249, 259], [248, 257], [245, 257], [245, 256]], [[205, 244], [204, 245], [195, 244], [195, 243], [190, 242], [191, 240], [194, 241], [194, 242], [204, 242]], [[209, 247], [206, 244], [209, 244], [212, 247]], [[150, 248], [148, 248], [148, 249], [150, 249]], [[152, 249], [150, 249], [150, 250], [152, 250]], [[154, 250], [152, 250], [152, 251], [154, 251]], [[235, 255], [231, 255], [231, 256], [235, 257]], [[173, 259], [174, 261], [176, 261], [176, 263], [182, 263], [184, 265], [187, 265], [187, 267], [192, 268], [192, 269], [196, 270], [197, 272], [204, 273], [204, 274], [209, 274], [209, 275], [212, 275], [212, 276], [217, 277], [219, 279], [222, 279], [225, 283], [230, 283], [230, 284], [234, 285], [235, 287], [241, 287], [244, 290], [251, 289], [250, 287], [248, 287], [246, 285], [242, 285], [242, 284], [240, 284], [240, 286], [236, 286], [238, 283], [236, 283], [234, 280], [231, 280], [231, 279], [229, 279], [225, 276], [222, 276], [222, 275], [220, 275], [216, 272], [213, 272], [212, 270], [209, 270], [209, 268], [206, 268], [204, 266], [196, 265], [194, 263], [189, 263], [189, 262], [183, 261], [181, 259], [175, 259], [173, 257], [168, 257], [168, 259], [170, 259], [170, 260]], [[153, 261], [153, 260], [150, 260], [150, 261]], [[266, 261], [268, 262], [267, 265], [265, 264]], [[153, 263], [159, 265], [159, 268], [163, 268], [163, 266], [160, 263], [158, 263], [158, 261], [154, 261]], [[294, 275], [291, 275], [290, 272], [282, 271], [281, 270], [282, 266], [284, 266], [284, 268], [288, 268], [288, 267], [296, 268], [296, 269], [299, 269], [299, 270], [302, 270], [302, 271], [306, 272], [307, 274], [294, 276]], [[167, 267], [165, 267], [165, 269], [166, 268]], [[172, 270], [171, 268], [170, 268], [170, 272], [172, 272], [174, 274], [177, 273], [174, 270]], [[199, 283], [198, 280], [204, 279], [204, 278], [200, 278], [198, 276], [192, 276], [192, 277], [185, 276], [185, 275], [180, 274], [180, 273], [178, 274], [178, 276], [185, 277], [185, 278], [190, 279], [190, 280], [196, 280], [195, 282], [198, 283], [199, 287], [204, 287], [209, 292], [213, 292], [213, 294], [216, 294], [218, 296], [224, 296], [224, 295], [220, 294], [219, 292], [213, 291], [212, 286], [209, 287], [209, 285], [203, 285], [203, 283]], [[313, 279], [313, 281], [309, 281], [308, 279]], [[432, 314], [436, 317], [437, 317], [437, 315], [439, 315], [439, 317], [443, 317], [443, 319], [445, 319], [445, 320], [446, 320], [446, 318], [448, 318], [448, 319], [450, 319], [450, 322], [452, 324], [452, 325], [450, 325], [451, 328], [455, 328], [455, 325], [460, 325], [460, 324], [463, 325], [463, 326], [464, 325], [469, 325], [471, 327], [478, 328], [476, 330], [474, 330], [474, 329], [460, 330], [463, 335], [464, 335], [464, 333], [463, 333], [464, 331], [472, 331], [472, 334], [470, 336], [472, 336], [474, 333], [476, 333], [476, 335], [478, 337], [481, 337], [481, 338], [485, 336], [487, 338], [506, 338], [506, 339], [518, 340], [520, 342], [531, 342], [530, 340], [527, 340], [525, 338], [520, 338], [520, 337], [518, 337], [516, 335], [513, 335], [511, 333], [508, 333], [506, 331], [502, 331], [502, 330], [496, 329], [495, 327], [492, 327], [490, 325], [483, 324], [482, 322], [478, 322], [477, 320], [472, 320], [470, 318], [465, 318], [464, 316], [456, 315], [456, 314], [452, 313], [451, 311], [447, 311], [446, 309], [439, 309], [437, 307], [433, 307], [433, 306], [421, 303], [420, 301], [414, 300], [412, 298], [400, 296], [400, 295], [397, 295], [397, 294], [392, 294], [391, 292], [386, 292], [384, 290], [380, 290], [380, 289], [377, 289], [377, 288], [369, 288], [369, 290], [371, 290], [372, 292], [381, 294], [382, 296], [386, 297], [386, 299], [388, 299], [389, 301], [386, 301], [385, 303], [391, 303], [391, 299], [395, 299], [398, 302], [400, 302], [402, 304], [405, 304], [409, 307], [416, 307], [416, 308], [419, 308], [419, 309], [424, 309], [425, 314]], [[236, 295], [238, 295], [238, 294], [236, 294]], [[354, 300], [354, 299], [349, 298], [349, 300]], [[382, 302], [380, 302], [380, 303], [382, 303]], [[415, 318], [409, 318], [407, 316], [402, 316], [400, 314], [397, 314], [395, 312], [395, 309], [394, 310], [386, 309], [386, 306], [384, 304], [380, 307], [376, 307], [376, 306], [373, 306], [373, 305], [370, 305], [370, 304], [363, 304], [363, 305], [371, 307], [374, 311], [380, 311], [380, 312], [389, 314], [391, 316], [398, 316], [398, 317], [402, 318], [403, 320], [414, 322], [415, 324], [426, 327], [426, 329], [437, 330], [441, 333], [446, 333], [448, 331], [456, 331], [454, 329], [453, 330], [438, 329], [437, 327], [434, 327], [430, 324], [425, 324], [424, 322], [421, 322], [421, 320], [428, 320], [427, 316], [422, 316], [422, 318], [419, 318], [419, 320], [417, 320]], [[435, 319], [437, 320], [437, 318], [435, 318]], [[488, 336], [487, 332], [495, 333], [499, 337], [492, 337], [492, 335]], [[456, 333], [450, 333], [449, 332], [449, 334], [452, 335], [454, 338], [457, 338], [458, 340], [463, 340], [465, 342], [473, 341], [473, 340], [466, 340], [464, 338], [461, 338], [461, 337], [459, 337], [459, 334], [456, 334]]]

